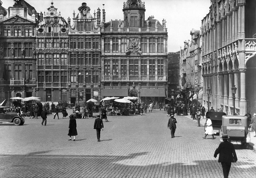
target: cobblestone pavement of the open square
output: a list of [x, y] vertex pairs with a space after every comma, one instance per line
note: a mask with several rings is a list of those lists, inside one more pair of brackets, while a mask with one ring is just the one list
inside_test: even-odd
[[[219, 139], [202, 139], [203, 127], [188, 118], [176, 116], [175, 138], [163, 110], [108, 119], [101, 142], [94, 119], [77, 119], [76, 141], [67, 140], [69, 119], [52, 115], [46, 126], [29, 118], [23, 126], [1, 124], [0, 177], [223, 177], [213, 157]], [[236, 153], [230, 177], [253, 177], [255, 151]]]

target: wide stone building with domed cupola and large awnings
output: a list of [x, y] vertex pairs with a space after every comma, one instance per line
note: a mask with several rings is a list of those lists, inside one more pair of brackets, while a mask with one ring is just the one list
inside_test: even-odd
[[101, 89], [107, 96], [136, 96], [141, 102], [167, 96], [167, 28], [150, 16], [145, 4], [128, 0], [123, 20], [105, 22], [101, 29]]

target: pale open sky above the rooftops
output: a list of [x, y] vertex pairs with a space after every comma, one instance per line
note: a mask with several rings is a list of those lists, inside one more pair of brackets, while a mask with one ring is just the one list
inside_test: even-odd
[[[13, 6], [13, 0], [1, 0], [2, 6], [6, 9]], [[52, 0], [26, 0], [37, 12], [47, 11]], [[127, 0], [53, 0], [53, 5], [61, 16], [73, 18], [73, 10], [77, 15], [78, 7], [83, 2], [90, 7], [90, 13], [97, 12], [98, 7], [106, 12], [106, 22], [111, 19], [123, 20], [123, 2]], [[177, 52], [180, 47], [183, 49], [184, 41], [191, 40], [190, 31], [192, 28], [200, 30], [201, 20], [209, 13], [210, 0], [142, 0], [145, 2], [145, 19], [154, 16], [162, 24], [166, 20], [168, 28], [168, 52]], [[102, 13], [101, 13], [102, 19]], [[71, 20], [72, 25], [72, 20]]]

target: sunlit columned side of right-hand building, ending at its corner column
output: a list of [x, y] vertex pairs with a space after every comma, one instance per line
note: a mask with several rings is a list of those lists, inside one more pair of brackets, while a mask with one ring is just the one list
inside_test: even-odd
[[[245, 0], [240, 0], [245, 1]], [[245, 2], [213, 2], [202, 20], [203, 106], [232, 115], [246, 113], [245, 100]], [[232, 87], [237, 88], [235, 107]], [[208, 101], [207, 88], [210, 87]], [[235, 109], [235, 110], [234, 110]]]

